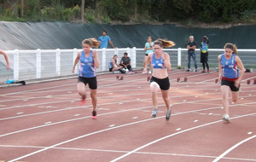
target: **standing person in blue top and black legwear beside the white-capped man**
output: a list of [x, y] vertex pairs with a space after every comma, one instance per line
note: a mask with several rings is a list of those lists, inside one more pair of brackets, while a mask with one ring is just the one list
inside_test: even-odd
[[207, 72], [210, 72], [209, 65], [208, 65], [208, 47], [209, 47], [209, 39], [207, 36], [203, 37], [203, 41], [201, 42], [201, 63], [203, 67], [202, 72], [206, 72], [206, 65], [207, 65]]

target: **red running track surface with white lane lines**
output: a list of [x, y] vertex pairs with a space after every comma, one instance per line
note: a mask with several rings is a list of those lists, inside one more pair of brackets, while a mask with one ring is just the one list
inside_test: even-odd
[[[0, 161], [256, 161], [256, 84], [222, 120], [218, 72], [172, 71], [172, 117], [150, 117], [149, 74], [98, 76], [98, 118], [90, 95], [81, 107], [77, 79], [0, 89]], [[188, 83], [177, 83], [188, 77]], [[230, 101], [231, 102], [231, 101]]]

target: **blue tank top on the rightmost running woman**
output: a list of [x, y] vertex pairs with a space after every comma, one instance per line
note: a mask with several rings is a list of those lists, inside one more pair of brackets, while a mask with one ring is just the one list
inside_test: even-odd
[[238, 78], [239, 71], [236, 64], [236, 54], [232, 54], [230, 60], [225, 58], [225, 55], [221, 55], [221, 67], [222, 67], [222, 76], [224, 78]]

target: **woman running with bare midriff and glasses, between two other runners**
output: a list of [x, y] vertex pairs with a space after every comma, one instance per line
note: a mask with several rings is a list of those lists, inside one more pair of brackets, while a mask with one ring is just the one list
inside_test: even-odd
[[163, 52], [163, 47], [172, 47], [175, 43], [172, 41], [166, 41], [164, 39], [157, 39], [154, 41], [153, 49], [154, 53], [148, 55], [148, 60], [145, 64], [143, 72], [147, 72], [148, 63], [152, 63], [153, 73], [150, 78], [150, 90], [152, 93], [152, 101], [154, 105], [154, 110], [151, 116], [156, 117], [158, 112], [157, 109], [157, 90], [161, 90], [162, 97], [166, 103], [166, 120], [170, 119], [171, 107], [168, 97], [168, 92], [170, 88], [170, 81], [168, 78], [168, 72], [171, 71], [171, 61], [170, 56]]

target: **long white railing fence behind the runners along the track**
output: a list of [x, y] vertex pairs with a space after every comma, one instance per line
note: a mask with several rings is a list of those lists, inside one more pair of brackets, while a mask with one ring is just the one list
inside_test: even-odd
[[[6, 70], [4, 58], [0, 55], [0, 83], [7, 79], [27, 80], [72, 75], [73, 62], [80, 50], [82, 49], [6, 50], [11, 70]], [[164, 50], [170, 55], [172, 67], [187, 67], [187, 49]], [[199, 50], [195, 49], [195, 54], [198, 67], [201, 67]], [[120, 59], [125, 52], [131, 57], [131, 67], [143, 67], [144, 49], [96, 49], [96, 51], [101, 65], [97, 72], [108, 71], [108, 64], [113, 55], [119, 55]], [[223, 54], [224, 49], [208, 49], [208, 51], [210, 67], [218, 67], [217, 56]], [[256, 49], [238, 49], [238, 52], [245, 67], [256, 68]], [[192, 60], [190, 66], [194, 67]], [[77, 70], [78, 67], [76, 72]]]

